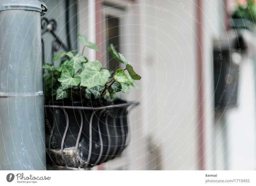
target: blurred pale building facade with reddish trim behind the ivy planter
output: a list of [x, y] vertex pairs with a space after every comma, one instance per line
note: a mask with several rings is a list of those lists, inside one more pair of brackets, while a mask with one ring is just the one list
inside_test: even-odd
[[[65, 9], [64, 2], [45, 2], [50, 10], [47, 16], [58, 17], [61, 11], [56, 14], [56, 7]], [[221, 96], [215, 95], [214, 89], [214, 40], [229, 37], [228, 7], [234, 8], [234, 2], [73, 2], [76, 8], [67, 11], [74, 19], [70, 33], [87, 35], [101, 51], [86, 49], [88, 58], [115, 68], [119, 64], [111, 62], [106, 52], [108, 44], [114, 43], [142, 76], [138, 83], [141, 91], [133, 89], [122, 96], [140, 102], [131, 111], [128, 148], [123, 156], [95, 169], [255, 169], [254, 36], [249, 32], [243, 33], [247, 50], [241, 59], [237, 105], [214, 113], [214, 97]], [[64, 18], [60, 16], [59, 21]], [[56, 30], [63, 41], [67, 39], [62, 33], [65, 26]], [[73, 49], [82, 51], [77, 44]], [[228, 45], [232, 47], [231, 42]]]

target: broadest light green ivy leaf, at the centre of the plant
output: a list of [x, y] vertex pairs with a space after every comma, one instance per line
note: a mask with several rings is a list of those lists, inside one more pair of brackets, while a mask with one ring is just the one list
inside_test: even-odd
[[108, 77], [110, 77], [110, 73], [106, 69], [101, 70], [100, 61], [95, 61], [84, 64], [84, 70], [81, 73], [81, 77], [81, 86], [90, 89], [97, 85], [105, 86], [108, 82]]

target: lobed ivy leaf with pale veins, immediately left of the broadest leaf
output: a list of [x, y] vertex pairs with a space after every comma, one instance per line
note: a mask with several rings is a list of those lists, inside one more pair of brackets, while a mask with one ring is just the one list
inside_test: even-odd
[[80, 83], [81, 77], [74, 77], [75, 70], [72, 66], [62, 65], [61, 69], [62, 72], [58, 81], [62, 82], [64, 85], [72, 86], [77, 86]]

